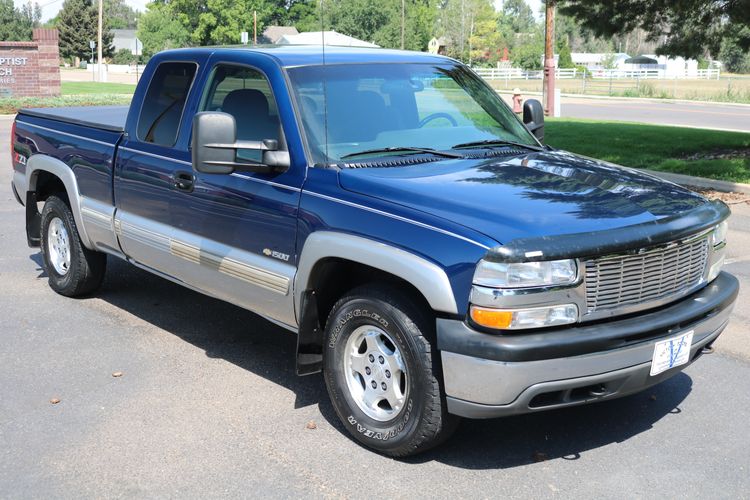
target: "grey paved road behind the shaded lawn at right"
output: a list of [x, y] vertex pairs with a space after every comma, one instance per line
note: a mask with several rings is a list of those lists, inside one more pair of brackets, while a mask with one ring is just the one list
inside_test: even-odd
[[560, 112], [565, 118], [619, 120], [750, 132], [750, 106], [563, 97]]

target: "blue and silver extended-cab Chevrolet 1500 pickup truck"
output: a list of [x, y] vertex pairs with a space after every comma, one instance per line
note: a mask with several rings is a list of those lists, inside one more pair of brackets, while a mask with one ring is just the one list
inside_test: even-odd
[[543, 136], [445, 57], [173, 50], [129, 108], [20, 111], [13, 191], [56, 292], [118, 257], [252, 310], [406, 456], [657, 384], [729, 320], [723, 203]]

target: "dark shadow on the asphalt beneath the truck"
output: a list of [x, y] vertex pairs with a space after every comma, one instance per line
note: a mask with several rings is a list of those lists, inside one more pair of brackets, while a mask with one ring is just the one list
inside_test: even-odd
[[[322, 377], [295, 374], [294, 334], [249, 311], [118, 259], [109, 259], [108, 266], [98, 299], [203, 349], [211, 358], [224, 359], [288, 388], [296, 395], [295, 409], [317, 404], [342, 438], [349, 438], [328, 401]], [[437, 461], [466, 469], [497, 469], [556, 458], [576, 460], [588, 450], [617, 445], [647, 432], [662, 419], [679, 419], [679, 405], [691, 388], [691, 378], [680, 373], [641, 394], [607, 403], [503, 419], [464, 420], [443, 446], [403, 462]]]

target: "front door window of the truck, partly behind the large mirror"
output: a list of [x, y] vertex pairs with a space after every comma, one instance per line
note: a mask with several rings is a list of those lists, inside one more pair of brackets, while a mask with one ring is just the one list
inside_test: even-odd
[[[279, 140], [279, 113], [266, 77], [252, 68], [217, 65], [203, 96], [201, 111], [234, 116], [237, 140]], [[238, 150], [238, 157], [260, 161], [259, 151]]]

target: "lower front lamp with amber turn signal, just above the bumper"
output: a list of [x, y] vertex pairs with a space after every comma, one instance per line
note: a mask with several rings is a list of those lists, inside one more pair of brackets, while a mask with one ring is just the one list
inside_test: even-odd
[[567, 325], [578, 320], [578, 306], [560, 304], [527, 309], [491, 309], [471, 306], [471, 319], [478, 325], [496, 330], [522, 330]]

